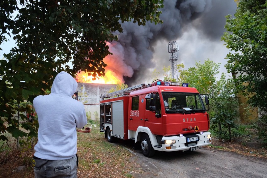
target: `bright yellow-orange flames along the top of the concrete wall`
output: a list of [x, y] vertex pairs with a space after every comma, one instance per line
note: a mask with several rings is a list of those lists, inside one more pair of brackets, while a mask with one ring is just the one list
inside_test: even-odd
[[88, 72], [78, 72], [76, 74], [76, 81], [80, 83], [102, 83], [102, 84], [121, 84], [124, 83], [123, 80], [120, 80], [117, 75], [110, 70], [106, 70], [105, 76], [98, 76], [96, 80], [93, 80], [92, 75], [88, 76]]

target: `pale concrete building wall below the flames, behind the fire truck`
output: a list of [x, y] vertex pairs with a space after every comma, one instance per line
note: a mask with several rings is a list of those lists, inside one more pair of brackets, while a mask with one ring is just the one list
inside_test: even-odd
[[[84, 104], [85, 111], [91, 112], [91, 120], [99, 119], [99, 101], [101, 94], [108, 93], [114, 84], [78, 83], [78, 98]], [[95, 116], [94, 113], [97, 112]]]

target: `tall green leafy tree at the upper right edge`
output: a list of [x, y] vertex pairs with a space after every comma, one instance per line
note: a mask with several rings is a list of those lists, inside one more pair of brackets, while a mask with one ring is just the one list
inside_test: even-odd
[[267, 109], [267, 2], [240, 0], [235, 18], [227, 16], [222, 36], [232, 50], [226, 68], [232, 72], [238, 89], [248, 96], [249, 104]]

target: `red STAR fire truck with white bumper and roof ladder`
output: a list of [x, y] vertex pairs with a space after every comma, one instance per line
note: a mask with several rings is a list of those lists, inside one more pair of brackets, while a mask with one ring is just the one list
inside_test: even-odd
[[[158, 79], [101, 98], [100, 132], [109, 142], [132, 139], [147, 157], [155, 150], [195, 150], [211, 144], [202, 96], [186, 83]], [[207, 96], [205, 103], [209, 105]]]

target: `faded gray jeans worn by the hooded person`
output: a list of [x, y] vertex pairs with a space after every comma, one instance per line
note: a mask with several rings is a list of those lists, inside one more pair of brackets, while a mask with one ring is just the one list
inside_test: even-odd
[[76, 178], [77, 157], [68, 160], [43, 160], [33, 158], [35, 178]]

